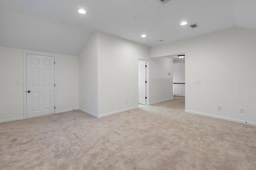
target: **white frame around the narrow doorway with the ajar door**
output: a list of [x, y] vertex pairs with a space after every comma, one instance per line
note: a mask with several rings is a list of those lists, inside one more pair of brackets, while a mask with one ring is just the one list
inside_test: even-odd
[[[146, 61], [146, 65], [147, 65], [147, 67], [146, 67], [146, 81], [147, 81], [147, 83], [146, 83], [146, 97], [147, 97], [147, 100], [146, 100], [146, 105], [149, 105], [150, 104], [150, 98], [149, 98], [149, 60], [147, 60], [147, 59], [140, 59], [140, 58], [138, 58], [138, 63], [137, 63], [137, 73], [138, 73], [138, 71], [139, 71], [139, 68], [138, 68], [138, 65], [139, 65], [139, 61]], [[139, 78], [138, 78], [138, 74], [137, 74], [137, 86], [138, 86], [138, 83], [139, 83]], [[138, 94], [139, 92], [138, 92], [138, 88], [137, 88], [137, 103], [139, 103], [139, 94]]]

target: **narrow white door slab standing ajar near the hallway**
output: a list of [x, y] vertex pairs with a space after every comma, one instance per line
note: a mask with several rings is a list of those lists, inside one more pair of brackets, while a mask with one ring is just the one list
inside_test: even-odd
[[146, 61], [138, 63], [138, 99], [139, 104], [146, 104]]

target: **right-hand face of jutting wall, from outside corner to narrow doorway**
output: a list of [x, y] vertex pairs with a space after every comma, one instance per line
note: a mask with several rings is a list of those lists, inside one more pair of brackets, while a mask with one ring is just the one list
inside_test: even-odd
[[99, 116], [138, 107], [138, 58], [149, 47], [101, 32], [98, 42]]

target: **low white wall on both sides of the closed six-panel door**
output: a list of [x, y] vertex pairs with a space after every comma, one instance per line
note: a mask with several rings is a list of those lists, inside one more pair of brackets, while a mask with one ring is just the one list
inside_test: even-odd
[[[0, 47], [0, 122], [23, 119], [24, 51]], [[78, 108], [78, 57], [57, 54], [57, 87], [58, 112]]]

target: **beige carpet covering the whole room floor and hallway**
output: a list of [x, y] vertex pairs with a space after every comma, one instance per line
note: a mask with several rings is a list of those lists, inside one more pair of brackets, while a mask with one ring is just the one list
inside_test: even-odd
[[1, 170], [255, 170], [256, 127], [184, 112], [184, 98], [96, 119], [0, 123]]

